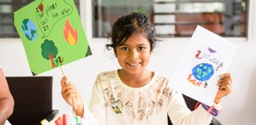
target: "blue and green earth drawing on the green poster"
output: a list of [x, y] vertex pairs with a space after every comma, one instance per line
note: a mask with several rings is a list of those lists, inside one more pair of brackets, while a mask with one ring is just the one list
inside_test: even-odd
[[22, 21], [22, 30], [26, 38], [30, 41], [34, 41], [35, 38], [38, 36], [37, 27], [30, 19], [26, 18]]

